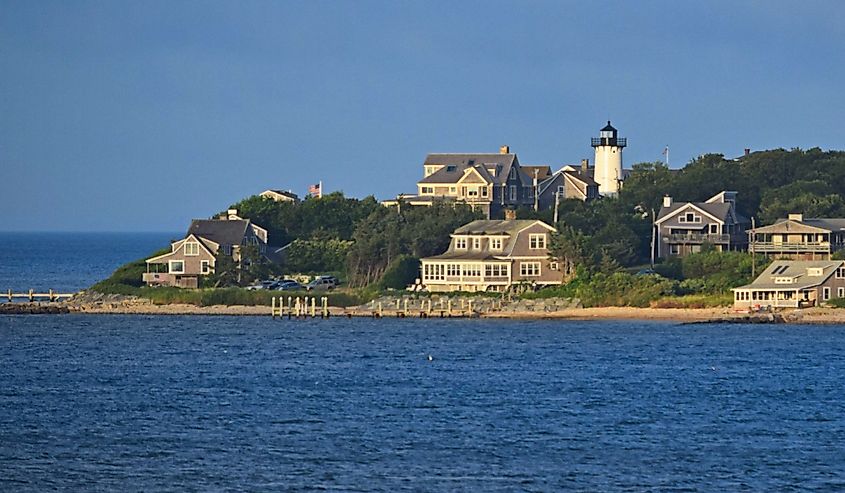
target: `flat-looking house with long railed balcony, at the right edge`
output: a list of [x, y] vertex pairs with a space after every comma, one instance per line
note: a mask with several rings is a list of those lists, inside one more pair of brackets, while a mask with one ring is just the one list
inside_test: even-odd
[[804, 218], [790, 214], [772, 225], [749, 232], [748, 250], [776, 257], [830, 259], [845, 248], [845, 219]]

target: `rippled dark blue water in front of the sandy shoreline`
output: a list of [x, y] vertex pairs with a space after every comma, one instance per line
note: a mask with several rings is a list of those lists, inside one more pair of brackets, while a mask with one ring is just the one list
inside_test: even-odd
[[0, 491], [845, 490], [842, 326], [4, 316], [0, 361]]

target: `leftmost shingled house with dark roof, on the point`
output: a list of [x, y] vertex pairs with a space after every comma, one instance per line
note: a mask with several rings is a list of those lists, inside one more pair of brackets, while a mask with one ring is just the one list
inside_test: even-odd
[[247, 245], [268, 255], [267, 230], [238, 217], [236, 210], [218, 219], [194, 219], [185, 238], [170, 245], [170, 253], [147, 259], [143, 281], [149, 286], [196, 288], [201, 276], [214, 273], [219, 252], [238, 262]]

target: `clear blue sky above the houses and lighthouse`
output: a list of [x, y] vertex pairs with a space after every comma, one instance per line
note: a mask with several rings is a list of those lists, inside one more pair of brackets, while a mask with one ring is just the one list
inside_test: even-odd
[[179, 231], [429, 152], [842, 149], [839, 2], [0, 1], [0, 230]]

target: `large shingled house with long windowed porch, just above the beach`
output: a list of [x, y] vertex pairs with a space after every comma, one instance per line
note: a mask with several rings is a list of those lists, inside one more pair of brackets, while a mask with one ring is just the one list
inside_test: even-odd
[[449, 248], [422, 263], [429, 291], [504, 291], [511, 285], [560, 284], [560, 264], [549, 258], [555, 229], [537, 220], [479, 220], [452, 234]]

